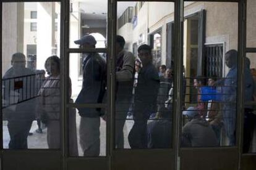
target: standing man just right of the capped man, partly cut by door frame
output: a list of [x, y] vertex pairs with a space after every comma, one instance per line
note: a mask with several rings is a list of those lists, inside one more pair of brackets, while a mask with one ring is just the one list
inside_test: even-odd
[[124, 123], [132, 102], [134, 86], [135, 57], [131, 52], [124, 50], [126, 41], [122, 36], [116, 36], [116, 148], [124, 148]]

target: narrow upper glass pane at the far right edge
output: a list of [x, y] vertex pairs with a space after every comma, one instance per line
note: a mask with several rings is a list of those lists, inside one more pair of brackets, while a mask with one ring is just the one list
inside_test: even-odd
[[246, 18], [246, 34], [247, 34], [247, 47], [256, 47], [256, 1], [254, 0], [247, 0], [247, 18]]

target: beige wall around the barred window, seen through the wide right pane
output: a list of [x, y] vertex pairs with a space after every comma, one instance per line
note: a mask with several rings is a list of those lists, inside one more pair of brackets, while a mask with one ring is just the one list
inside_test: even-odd
[[[238, 39], [238, 4], [225, 2], [204, 2], [207, 10], [206, 42], [224, 42], [224, 52], [237, 50]], [[224, 59], [223, 59], [224, 60]], [[224, 67], [224, 75], [228, 73]]]

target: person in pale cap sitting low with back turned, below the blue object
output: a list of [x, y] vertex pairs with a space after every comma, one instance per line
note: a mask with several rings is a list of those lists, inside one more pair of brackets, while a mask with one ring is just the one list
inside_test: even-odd
[[182, 127], [182, 147], [215, 147], [218, 145], [215, 132], [208, 121], [200, 118], [197, 108], [189, 107], [182, 115], [189, 122]]

